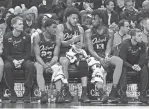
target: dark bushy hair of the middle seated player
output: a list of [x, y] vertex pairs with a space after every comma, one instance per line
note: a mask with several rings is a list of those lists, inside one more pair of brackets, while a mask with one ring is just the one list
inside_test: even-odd
[[77, 14], [78, 17], [80, 17], [80, 12], [77, 8], [71, 7], [71, 8], [67, 8], [64, 12], [64, 16], [65, 18], [69, 17], [72, 14]]

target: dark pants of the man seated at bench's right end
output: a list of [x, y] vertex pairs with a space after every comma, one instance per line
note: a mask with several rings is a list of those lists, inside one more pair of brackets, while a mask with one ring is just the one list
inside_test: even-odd
[[[126, 95], [127, 90], [127, 72], [133, 71], [123, 66], [122, 75], [119, 81], [119, 88], [122, 95]], [[140, 91], [146, 91], [148, 86], [148, 71], [147, 67], [143, 66], [140, 72], [137, 72], [137, 76], [140, 76]]]

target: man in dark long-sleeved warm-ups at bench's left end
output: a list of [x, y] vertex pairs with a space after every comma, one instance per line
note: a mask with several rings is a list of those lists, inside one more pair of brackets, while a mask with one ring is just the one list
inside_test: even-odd
[[31, 37], [23, 32], [23, 19], [19, 16], [11, 20], [13, 31], [5, 34], [3, 38], [4, 44], [4, 71], [5, 80], [11, 91], [10, 102], [15, 103], [17, 96], [14, 91], [14, 74], [15, 69], [23, 69], [25, 71], [25, 93], [23, 95], [24, 102], [30, 102], [30, 92], [33, 85], [34, 65], [31, 62]]

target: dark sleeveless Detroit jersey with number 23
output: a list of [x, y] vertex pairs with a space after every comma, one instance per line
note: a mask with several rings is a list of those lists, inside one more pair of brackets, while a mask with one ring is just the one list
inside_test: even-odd
[[40, 47], [40, 57], [43, 59], [43, 61], [50, 62], [51, 59], [53, 58], [53, 52], [55, 48], [55, 40], [54, 38], [52, 41], [46, 41], [43, 34], [40, 35], [40, 42], [39, 42], [39, 47]]

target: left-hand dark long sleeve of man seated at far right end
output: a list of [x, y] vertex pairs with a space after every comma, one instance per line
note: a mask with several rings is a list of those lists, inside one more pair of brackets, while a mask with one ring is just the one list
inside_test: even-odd
[[120, 58], [123, 59], [124, 65], [126, 67], [132, 68], [132, 65], [127, 62], [127, 51], [128, 51], [128, 44], [121, 44], [120, 47]]

